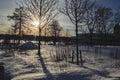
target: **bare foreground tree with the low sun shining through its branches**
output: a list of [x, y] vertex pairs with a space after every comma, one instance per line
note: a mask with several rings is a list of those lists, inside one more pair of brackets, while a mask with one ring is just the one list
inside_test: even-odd
[[41, 45], [41, 31], [45, 28], [53, 18], [57, 15], [58, 0], [23, 0], [22, 4], [32, 16], [33, 20], [39, 22], [39, 42], [38, 42], [38, 55], [40, 55], [40, 45]]

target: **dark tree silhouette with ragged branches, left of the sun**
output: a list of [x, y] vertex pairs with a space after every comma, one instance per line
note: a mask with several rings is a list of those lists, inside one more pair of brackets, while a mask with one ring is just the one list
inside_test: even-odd
[[19, 35], [18, 44], [20, 44], [20, 37], [22, 36], [22, 26], [25, 24], [25, 13], [23, 7], [15, 8], [15, 11], [12, 16], [7, 16], [8, 20], [13, 20], [15, 23], [12, 26], [14, 33]]

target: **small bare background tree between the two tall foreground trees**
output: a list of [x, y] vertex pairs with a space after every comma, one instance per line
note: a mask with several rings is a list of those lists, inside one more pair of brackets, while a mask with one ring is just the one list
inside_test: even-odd
[[60, 27], [57, 20], [53, 20], [51, 26], [51, 36], [54, 37], [54, 45], [56, 45], [56, 39], [60, 36], [60, 32], [62, 31], [62, 27]]

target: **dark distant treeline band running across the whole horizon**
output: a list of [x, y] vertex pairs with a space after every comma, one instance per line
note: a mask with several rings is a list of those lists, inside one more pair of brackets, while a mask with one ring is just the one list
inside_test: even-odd
[[[41, 41], [44, 42], [54, 42], [54, 36], [41, 36]], [[38, 41], [39, 36], [34, 35], [9, 35], [0, 34], [0, 39], [2, 40], [24, 40], [24, 41]], [[64, 42], [66, 45], [75, 44], [75, 37], [57, 37], [56, 42]], [[113, 45], [120, 46], [120, 37], [115, 34], [93, 34], [92, 40], [90, 34], [79, 34], [79, 43], [82, 45]]]

